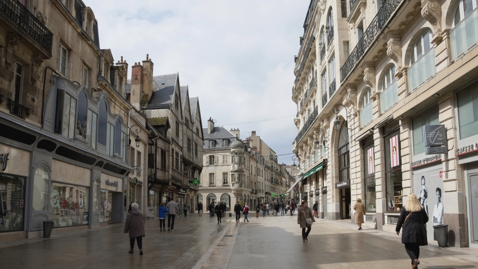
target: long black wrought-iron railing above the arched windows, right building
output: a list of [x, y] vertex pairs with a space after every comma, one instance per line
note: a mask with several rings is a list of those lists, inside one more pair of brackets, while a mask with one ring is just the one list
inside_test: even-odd
[[348, 56], [344, 65], [340, 68], [342, 73], [342, 81], [348, 76], [350, 72], [355, 68], [355, 64], [364, 55], [365, 51], [370, 47], [372, 42], [378, 36], [378, 33], [383, 29], [386, 23], [389, 21], [392, 14], [402, 3], [402, 0], [387, 0], [382, 4], [382, 7], [375, 15], [375, 18], [370, 23], [367, 30], [365, 30], [363, 37], [359, 40], [352, 53]]

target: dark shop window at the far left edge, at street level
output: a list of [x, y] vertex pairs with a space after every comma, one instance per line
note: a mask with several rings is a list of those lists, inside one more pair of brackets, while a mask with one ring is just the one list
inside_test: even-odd
[[25, 178], [0, 173], [0, 232], [23, 230]]

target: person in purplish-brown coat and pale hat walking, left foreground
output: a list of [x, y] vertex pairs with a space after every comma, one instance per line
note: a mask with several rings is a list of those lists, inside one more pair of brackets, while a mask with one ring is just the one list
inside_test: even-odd
[[130, 236], [130, 247], [131, 250], [129, 253], [134, 251], [134, 241], [138, 243], [139, 255], [143, 255], [143, 237], [144, 233], [144, 217], [141, 211], [138, 210], [139, 205], [136, 203], [131, 204], [131, 212], [126, 217], [125, 231], [124, 233], [129, 233]]

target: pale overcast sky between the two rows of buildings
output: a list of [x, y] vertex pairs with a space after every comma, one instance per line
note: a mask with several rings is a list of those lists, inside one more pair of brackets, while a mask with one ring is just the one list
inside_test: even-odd
[[[101, 48], [129, 66], [149, 54], [155, 76], [179, 73], [189, 96], [199, 97], [203, 125], [212, 117], [239, 128], [241, 139], [255, 130], [277, 154], [292, 152], [293, 57], [309, 0], [83, 2], [98, 20]], [[275, 118], [282, 119], [238, 124]]]

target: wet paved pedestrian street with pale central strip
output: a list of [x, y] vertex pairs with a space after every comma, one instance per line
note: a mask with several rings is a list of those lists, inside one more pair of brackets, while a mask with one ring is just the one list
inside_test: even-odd
[[[234, 215], [193, 214], [176, 218], [174, 231], [160, 232], [146, 220], [144, 255], [129, 251], [124, 223], [0, 244], [1, 268], [410, 268], [393, 233], [358, 231], [349, 221], [318, 220], [303, 243], [296, 216], [255, 218], [236, 223]], [[9, 257], [5, 259], [5, 257]], [[420, 268], [478, 268], [478, 251], [421, 248]]]

